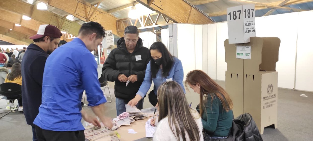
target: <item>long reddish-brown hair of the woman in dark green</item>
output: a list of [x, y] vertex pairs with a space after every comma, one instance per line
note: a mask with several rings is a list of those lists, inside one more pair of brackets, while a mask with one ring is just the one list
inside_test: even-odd
[[218, 97], [223, 105], [223, 109], [226, 112], [233, 109], [233, 102], [228, 93], [202, 70], [192, 70], [188, 72], [185, 85], [188, 86], [188, 83], [191, 85], [200, 85], [199, 110], [201, 116], [203, 114], [203, 107], [205, 103], [205, 101], [203, 101], [203, 97], [207, 97], [208, 95], [212, 98], [211, 103], [215, 96]]

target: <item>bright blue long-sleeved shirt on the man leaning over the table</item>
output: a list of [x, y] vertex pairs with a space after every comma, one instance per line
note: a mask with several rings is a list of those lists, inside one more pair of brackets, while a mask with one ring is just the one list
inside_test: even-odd
[[54, 50], [44, 67], [42, 104], [33, 123], [51, 131], [85, 130], [80, 112], [83, 91], [89, 106], [106, 102], [97, 67], [94, 55], [79, 38]]

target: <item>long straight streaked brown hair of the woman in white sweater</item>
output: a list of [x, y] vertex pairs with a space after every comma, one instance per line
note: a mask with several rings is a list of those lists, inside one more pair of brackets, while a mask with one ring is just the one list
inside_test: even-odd
[[168, 116], [169, 126], [177, 140], [182, 137], [182, 140], [186, 141], [188, 136], [191, 141], [199, 141], [202, 131], [199, 131], [195, 118], [200, 116], [192, 115], [193, 109], [187, 103], [182, 86], [175, 81], [164, 82], [157, 91], [157, 97], [159, 121]]

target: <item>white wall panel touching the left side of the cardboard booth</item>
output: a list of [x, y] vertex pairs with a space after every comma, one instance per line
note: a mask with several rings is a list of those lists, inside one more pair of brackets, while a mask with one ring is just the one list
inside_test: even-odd
[[227, 22], [217, 23], [217, 44], [216, 44], [216, 79], [225, 81], [225, 71], [227, 63], [225, 62], [224, 41], [228, 39]]

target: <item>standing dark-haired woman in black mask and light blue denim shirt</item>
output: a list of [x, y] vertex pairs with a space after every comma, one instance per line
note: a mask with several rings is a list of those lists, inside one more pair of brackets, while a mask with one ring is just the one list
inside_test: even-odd
[[150, 89], [152, 81], [154, 87], [149, 93], [149, 101], [153, 106], [157, 105], [156, 92], [163, 82], [176, 81], [182, 86], [184, 93], [186, 93], [182, 85], [182, 80], [184, 79], [182, 62], [177, 57], [172, 56], [162, 42], [153, 43], [150, 47], [150, 54], [151, 58], [147, 65], [145, 78], [136, 93], [136, 97], [128, 105], [135, 106], [144, 98]]

